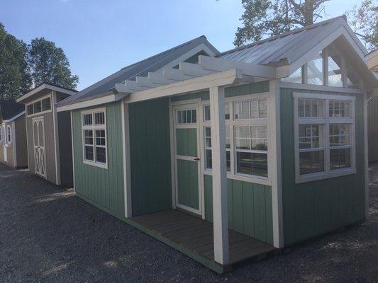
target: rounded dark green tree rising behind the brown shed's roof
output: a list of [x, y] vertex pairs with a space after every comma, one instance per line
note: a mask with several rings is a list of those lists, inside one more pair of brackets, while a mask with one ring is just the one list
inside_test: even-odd
[[62, 48], [44, 37], [31, 41], [28, 62], [35, 86], [55, 83], [65, 88], [76, 88], [79, 82], [79, 77], [71, 74], [70, 62]]

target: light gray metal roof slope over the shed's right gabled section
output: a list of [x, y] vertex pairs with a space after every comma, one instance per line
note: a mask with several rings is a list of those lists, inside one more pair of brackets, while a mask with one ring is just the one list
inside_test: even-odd
[[[253, 42], [250, 45], [222, 52], [218, 57], [231, 61], [262, 65], [274, 65], [283, 60], [287, 61], [287, 64], [291, 64], [301, 57], [304, 52], [311, 50], [314, 44], [323, 40], [323, 37], [328, 35], [327, 29], [336, 21], [345, 21], [345, 17], [331, 18], [328, 21], [291, 30], [282, 35], [269, 37], [265, 40]], [[339, 26], [337, 25], [335, 28]], [[323, 33], [323, 31], [326, 33]], [[331, 33], [333, 30], [330, 29], [329, 32]]]

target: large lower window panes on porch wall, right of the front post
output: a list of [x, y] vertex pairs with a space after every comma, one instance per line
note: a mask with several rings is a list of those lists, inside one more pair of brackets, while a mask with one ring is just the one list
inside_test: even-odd
[[235, 127], [236, 172], [267, 177], [267, 126]]

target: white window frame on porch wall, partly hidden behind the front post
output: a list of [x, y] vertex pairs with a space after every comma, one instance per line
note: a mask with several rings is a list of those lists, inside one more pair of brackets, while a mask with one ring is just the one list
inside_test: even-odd
[[[230, 109], [230, 119], [226, 120], [226, 127], [229, 127], [230, 129], [230, 149], [227, 149], [230, 151], [230, 171], [227, 172], [227, 178], [233, 179], [233, 180], [243, 180], [245, 182], [249, 183], [257, 183], [262, 185], [271, 185], [271, 178], [272, 175], [270, 168], [270, 162], [269, 158], [272, 158], [272, 150], [269, 151], [269, 148], [271, 148], [271, 132], [269, 128], [271, 127], [270, 124], [272, 121], [270, 121], [269, 117], [269, 92], [268, 93], [256, 93], [256, 94], [248, 94], [248, 95], [242, 95], [242, 96], [233, 96], [230, 98], [225, 98], [225, 103], [229, 103], [229, 109]], [[267, 117], [266, 118], [250, 118], [250, 119], [235, 119], [234, 115], [234, 105], [235, 102], [242, 102], [242, 101], [251, 101], [251, 100], [261, 100], [266, 99], [267, 101]], [[209, 100], [201, 101], [202, 105], [202, 111], [201, 115], [204, 117], [204, 109], [206, 105], [209, 105]], [[210, 113], [211, 115], [211, 113]], [[205, 121], [203, 118], [201, 121], [200, 129], [201, 129], [201, 151], [204, 154], [204, 158], [202, 158], [202, 164], [201, 167], [203, 168], [203, 173], [206, 175], [212, 175], [211, 169], [206, 168], [206, 151], [205, 151], [205, 127], [211, 127], [211, 122], [209, 120]], [[268, 144], [268, 150], [267, 150], [267, 166], [268, 166], [268, 172], [267, 177], [260, 176], [260, 175], [248, 175], [243, 173], [237, 173], [236, 171], [236, 149], [235, 149], [235, 127], [242, 127], [242, 126], [267, 126], [267, 144]], [[248, 151], [248, 152], [255, 152], [255, 150]], [[260, 151], [259, 153], [261, 153]], [[270, 153], [269, 153], [270, 152]], [[265, 153], [265, 151], [264, 151]]]

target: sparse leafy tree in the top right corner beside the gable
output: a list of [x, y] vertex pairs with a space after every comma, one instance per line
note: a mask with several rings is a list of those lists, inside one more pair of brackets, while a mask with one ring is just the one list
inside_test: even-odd
[[360, 36], [367, 50], [378, 48], [378, 7], [371, 0], [364, 0], [361, 6], [353, 6], [345, 13], [352, 30]]

